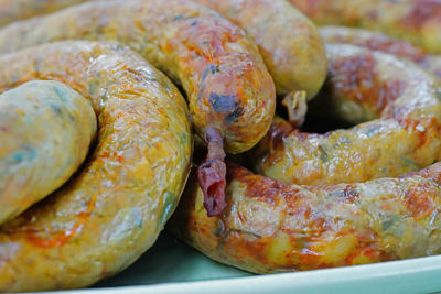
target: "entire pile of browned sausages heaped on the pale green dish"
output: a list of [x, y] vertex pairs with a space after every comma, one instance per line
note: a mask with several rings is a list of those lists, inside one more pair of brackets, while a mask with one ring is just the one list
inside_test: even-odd
[[[440, 253], [441, 4], [291, 2], [1, 0], [3, 25], [52, 13], [0, 29], [0, 290], [110, 276], [176, 206], [256, 273]], [[302, 132], [306, 101], [358, 124]]]

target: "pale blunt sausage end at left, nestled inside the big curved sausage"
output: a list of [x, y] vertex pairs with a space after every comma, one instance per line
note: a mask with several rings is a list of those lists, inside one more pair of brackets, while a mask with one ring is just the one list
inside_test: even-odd
[[64, 184], [96, 129], [89, 101], [64, 84], [29, 81], [0, 95], [0, 224]]

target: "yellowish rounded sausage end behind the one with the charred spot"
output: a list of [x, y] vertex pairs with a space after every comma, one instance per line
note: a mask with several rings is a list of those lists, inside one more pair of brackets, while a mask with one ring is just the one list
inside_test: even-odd
[[252, 36], [278, 95], [306, 91], [311, 99], [327, 73], [326, 53], [314, 24], [286, 0], [197, 0]]

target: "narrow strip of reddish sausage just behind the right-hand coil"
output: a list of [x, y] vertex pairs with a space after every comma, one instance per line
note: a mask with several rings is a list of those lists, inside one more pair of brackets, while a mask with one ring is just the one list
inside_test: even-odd
[[379, 32], [346, 26], [322, 26], [321, 37], [329, 43], [343, 43], [381, 51], [418, 63], [421, 67], [441, 77], [441, 57], [427, 53], [409, 42], [392, 39]]

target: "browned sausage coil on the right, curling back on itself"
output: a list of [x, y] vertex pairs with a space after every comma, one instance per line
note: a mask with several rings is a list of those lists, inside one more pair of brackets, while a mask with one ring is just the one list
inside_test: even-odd
[[[281, 182], [230, 163], [227, 207], [208, 218], [192, 176], [169, 222], [175, 236], [255, 273], [441, 253], [441, 163], [432, 164], [441, 143], [438, 78], [385, 53], [342, 44], [326, 50], [333, 106], [356, 105], [357, 119], [380, 119], [324, 135], [276, 119], [250, 157], [267, 154], [265, 172]], [[430, 166], [417, 171], [420, 165]], [[289, 168], [302, 172], [287, 177]], [[392, 174], [398, 177], [384, 177]]]

